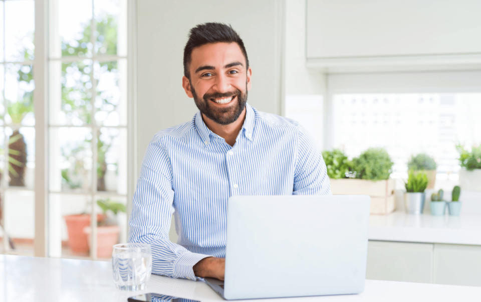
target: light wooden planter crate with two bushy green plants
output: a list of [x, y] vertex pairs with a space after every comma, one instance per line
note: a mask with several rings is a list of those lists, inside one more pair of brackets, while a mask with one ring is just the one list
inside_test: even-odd
[[393, 162], [386, 150], [369, 148], [352, 161], [337, 150], [324, 154], [329, 155], [326, 157], [331, 165], [328, 173], [333, 194], [371, 196], [371, 214], [388, 214], [396, 209], [395, 180], [389, 179]]

